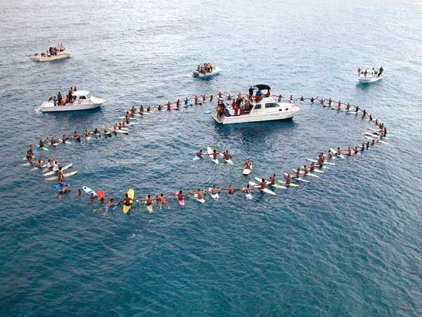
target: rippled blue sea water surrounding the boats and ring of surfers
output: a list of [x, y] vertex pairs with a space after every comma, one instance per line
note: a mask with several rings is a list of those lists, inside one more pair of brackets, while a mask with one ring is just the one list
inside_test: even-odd
[[[420, 1], [1, 1], [1, 316], [420, 316], [422, 3]], [[418, 31], [419, 30], [419, 31]], [[72, 58], [35, 63], [63, 42]], [[201, 61], [223, 68], [191, 77]], [[355, 72], [383, 66], [381, 82]], [[101, 128], [132, 104], [245, 92], [331, 97], [366, 108], [392, 135], [276, 197], [187, 199], [151, 214], [94, 211], [20, 166], [46, 135]], [[89, 89], [99, 111], [42, 114], [58, 90]], [[51, 149], [72, 188], [120, 199], [236, 187], [281, 175], [329, 147], [359, 145], [369, 123], [300, 104], [291, 122], [219, 126], [213, 104], [163, 111], [127, 136]], [[207, 146], [234, 166], [193, 162]], [[47, 157], [46, 153], [42, 154]]]

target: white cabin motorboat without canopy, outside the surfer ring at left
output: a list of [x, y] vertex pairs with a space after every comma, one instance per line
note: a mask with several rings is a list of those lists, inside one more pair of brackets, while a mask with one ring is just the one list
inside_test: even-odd
[[77, 111], [94, 109], [101, 106], [106, 99], [96, 98], [89, 94], [88, 90], [77, 90], [72, 94], [73, 102], [54, 106], [54, 101], [44, 101], [39, 110], [41, 112], [57, 112], [57, 111]]

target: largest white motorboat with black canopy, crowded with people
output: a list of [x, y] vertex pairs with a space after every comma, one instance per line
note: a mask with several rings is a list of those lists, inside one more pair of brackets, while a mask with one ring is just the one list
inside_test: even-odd
[[[249, 123], [270, 120], [292, 120], [295, 113], [300, 108], [290, 101], [276, 101], [271, 97], [270, 87], [268, 85], [255, 85], [258, 91], [267, 91], [265, 94], [255, 97], [241, 97], [241, 101], [245, 105], [245, 111], [238, 112], [236, 116], [235, 110], [232, 107], [227, 107], [219, 100], [217, 104], [217, 111], [212, 115], [212, 118], [217, 123], [224, 125], [231, 123]], [[258, 93], [259, 94], [259, 93]]]

